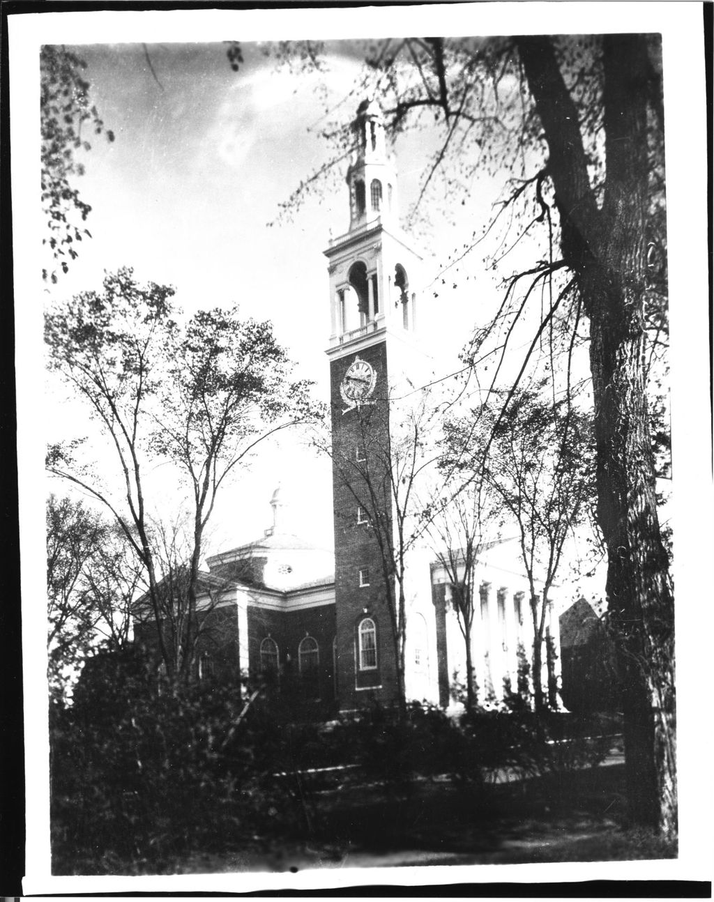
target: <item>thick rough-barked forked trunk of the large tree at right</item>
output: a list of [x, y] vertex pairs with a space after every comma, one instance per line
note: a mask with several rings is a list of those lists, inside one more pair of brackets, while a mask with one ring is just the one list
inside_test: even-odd
[[519, 41], [551, 150], [561, 249], [590, 321], [598, 524], [625, 680], [626, 778], [638, 824], [676, 831], [674, 631], [644, 380], [649, 63], [642, 35], [603, 39], [607, 179], [598, 211], [577, 115], [547, 39]]

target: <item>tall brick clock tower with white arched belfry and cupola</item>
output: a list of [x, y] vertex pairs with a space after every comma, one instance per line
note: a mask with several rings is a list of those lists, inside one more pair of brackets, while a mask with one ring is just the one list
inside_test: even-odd
[[394, 580], [390, 445], [397, 398], [407, 393], [407, 381], [418, 385], [429, 366], [417, 338], [422, 257], [398, 226], [394, 154], [374, 100], [360, 104], [351, 128], [349, 227], [324, 252], [341, 711], [375, 701], [390, 704], [397, 697], [388, 600]]

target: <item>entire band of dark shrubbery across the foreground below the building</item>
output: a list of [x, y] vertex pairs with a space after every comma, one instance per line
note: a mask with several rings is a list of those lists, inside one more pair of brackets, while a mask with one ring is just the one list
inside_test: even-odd
[[191, 854], [314, 840], [335, 804], [348, 823], [357, 805], [357, 824], [366, 791], [406, 799], [425, 778], [473, 791], [476, 816], [485, 784], [587, 767], [600, 758], [592, 727], [606, 732], [516, 701], [460, 719], [414, 703], [406, 716], [376, 706], [280, 723], [255, 698], [230, 681], [158, 683], [136, 648], [89, 658], [72, 706], [51, 706], [53, 872], [162, 872]]

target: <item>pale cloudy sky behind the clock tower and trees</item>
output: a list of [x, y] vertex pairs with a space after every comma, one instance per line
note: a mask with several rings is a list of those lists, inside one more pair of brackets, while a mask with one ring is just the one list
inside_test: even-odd
[[[350, 92], [360, 71], [359, 46], [331, 42], [323, 57], [327, 71], [310, 75], [278, 66], [254, 43], [244, 43], [238, 72], [230, 69], [219, 42], [74, 49], [87, 63], [92, 103], [116, 140], [92, 136], [91, 150], [81, 155], [86, 171], [75, 184], [92, 207], [86, 224], [92, 237], [81, 244], [70, 272], [45, 287], [45, 302], [51, 306], [79, 290], [98, 290], [105, 271], [131, 266], [139, 281], [175, 286], [175, 299], [187, 313], [237, 303], [245, 317], [271, 319], [297, 374], [315, 383], [318, 399], [327, 400], [329, 284], [322, 251], [330, 237], [348, 228], [347, 162], [301, 207], [288, 216], [280, 211], [300, 181], [331, 157], [320, 136], [328, 123], [326, 107], [342, 123], [356, 113], [358, 99]], [[403, 216], [436, 140], [434, 133], [407, 132], [395, 147]], [[471, 235], [475, 222], [487, 222], [488, 192], [495, 187], [484, 179], [477, 192], [480, 207], [469, 207], [460, 228], [431, 231], [427, 281], [437, 277], [440, 262], [462, 236]], [[482, 281], [486, 290], [491, 280]], [[474, 290], [478, 286], [469, 297]], [[442, 367], [452, 371], [473, 310], [453, 292], [436, 299], [425, 291], [424, 298], [422, 331], [431, 351], [447, 358]], [[51, 391], [49, 397], [48, 432], [73, 437], [81, 411], [61, 394]], [[68, 417], [69, 410], [76, 412]], [[329, 460], [283, 437], [280, 446], [264, 446], [250, 474], [220, 493], [210, 552], [262, 533], [278, 482], [296, 509], [311, 511], [301, 530], [331, 545]]]

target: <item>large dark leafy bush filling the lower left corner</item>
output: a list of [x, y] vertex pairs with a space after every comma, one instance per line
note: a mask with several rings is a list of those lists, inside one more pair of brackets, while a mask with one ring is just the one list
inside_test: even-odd
[[51, 710], [53, 872], [156, 872], [301, 828], [280, 730], [244, 709], [236, 685], [158, 691], [135, 649], [90, 659]]

